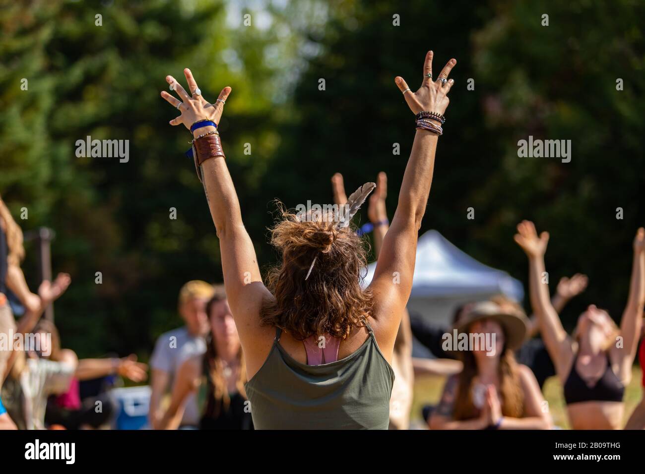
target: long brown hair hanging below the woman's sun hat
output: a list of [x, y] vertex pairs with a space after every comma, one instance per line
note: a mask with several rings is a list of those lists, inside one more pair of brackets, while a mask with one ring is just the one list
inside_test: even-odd
[[[463, 351], [461, 360], [464, 368], [459, 374], [459, 388], [455, 399], [455, 420], [470, 420], [477, 418], [477, 408], [473, 403], [473, 384], [477, 377], [477, 363], [471, 351]], [[497, 368], [499, 377], [502, 415], [505, 417], [521, 418], [524, 415], [524, 393], [519, 379], [519, 370], [513, 351], [504, 344]]]

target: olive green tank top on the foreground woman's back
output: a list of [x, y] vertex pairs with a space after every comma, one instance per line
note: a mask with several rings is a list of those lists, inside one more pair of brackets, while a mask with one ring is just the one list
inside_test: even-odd
[[246, 382], [256, 430], [387, 430], [394, 372], [374, 332], [344, 359], [309, 366], [279, 344]]

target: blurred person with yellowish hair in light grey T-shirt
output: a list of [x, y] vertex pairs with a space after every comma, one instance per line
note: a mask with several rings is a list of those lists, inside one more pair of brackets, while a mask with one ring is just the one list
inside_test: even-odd
[[[213, 297], [213, 286], [201, 280], [189, 281], [179, 290], [178, 310], [184, 326], [163, 333], [157, 339], [150, 357], [152, 377], [150, 385], [150, 426], [159, 428], [163, 418], [162, 399], [172, 387], [179, 368], [192, 357], [202, 357], [206, 353], [204, 336], [208, 333], [206, 302]], [[180, 426], [199, 427], [199, 406], [195, 393], [188, 395]]]

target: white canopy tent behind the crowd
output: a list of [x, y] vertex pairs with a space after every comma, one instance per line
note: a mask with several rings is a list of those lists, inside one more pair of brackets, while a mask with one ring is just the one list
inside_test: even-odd
[[[370, 284], [375, 268], [376, 262], [368, 265], [363, 286]], [[408, 310], [433, 324], [448, 325], [460, 304], [500, 293], [515, 301], [524, 298], [521, 282], [473, 259], [436, 230], [419, 238]]]

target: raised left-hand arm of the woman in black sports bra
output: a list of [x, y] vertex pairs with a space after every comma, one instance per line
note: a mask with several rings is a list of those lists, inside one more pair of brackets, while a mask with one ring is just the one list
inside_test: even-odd
[[533, 222], [522, 221], [517, 226], [515, 242], [521, 246], [529, 259], [529, 293], [533, 314], [537, 317], [546, 349], [555, 364], [558, 375], [566, 376], [568, 365], [573, 357], [571, 339], [562, 327], [560, 318], [549, 299], [549, 287], [544, 268], [544, 253], [549, 234], [542, 232], [537, 236]]

